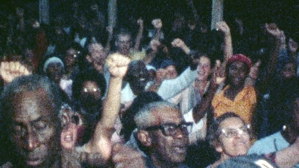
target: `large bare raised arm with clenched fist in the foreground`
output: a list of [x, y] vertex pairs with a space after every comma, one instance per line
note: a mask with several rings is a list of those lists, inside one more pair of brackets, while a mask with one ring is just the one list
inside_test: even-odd
[[120, 109], [122, 78], [127, 71], [129, 62], [129, 58], [117, 53], [108, 56], [106, 65], [111, 76], [102, 108], [102, 118], [97, 123], [93, 137], [85, 146], [85, 152], [99, 153], [106, 160], [109, 159], [111, 154], [110, 139], [114, 131], [115, 119]]

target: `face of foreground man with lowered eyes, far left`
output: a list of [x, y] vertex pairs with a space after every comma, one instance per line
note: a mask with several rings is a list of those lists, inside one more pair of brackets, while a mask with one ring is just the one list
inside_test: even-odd
[[11, 141], [18, 167], [51, 167], [59, 154], [58, 118], [43, 89], [13, 97]]

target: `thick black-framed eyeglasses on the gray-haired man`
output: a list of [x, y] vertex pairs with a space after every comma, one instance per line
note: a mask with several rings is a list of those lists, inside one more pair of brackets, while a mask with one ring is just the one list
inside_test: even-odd
[[161, 125], [157, 125], [157, 126], [149, 126], [149, 127], [145, 128], [144, 130], [152, 131], [155, 129], [160, 129], [162, 131], [163, 135], [174, 136], [177, 133], [178, 128], [179, 128], [184, 135], [188, 135], [188, 133], [191, 132], [192, 125], [193, 125], [193, 123], [191, 123], [191, 122], [187, 122], [187, 123], [183, 122], [180, 124], [168, 123], [168, 124], [161, 124]]

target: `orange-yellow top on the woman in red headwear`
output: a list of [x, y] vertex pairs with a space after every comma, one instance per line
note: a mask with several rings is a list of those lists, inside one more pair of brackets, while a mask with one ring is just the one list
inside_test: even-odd
[[214, 109], [214, 118], [226, 112], [233, 112], [238, 114], [247, 124], [250, 124], [251, 115], [257, 103], [254, 87], [245, 86], [237, 94], [234, 101], [224, 97], [224, 91], [228, 88], [229, 86], [226, 86], [221, 92], [216, 93], [213, 98], [212, 106]]

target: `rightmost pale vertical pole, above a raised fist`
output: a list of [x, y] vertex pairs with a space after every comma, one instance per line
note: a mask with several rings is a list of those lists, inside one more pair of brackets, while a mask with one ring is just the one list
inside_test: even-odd
[[223, 20], [223, 1], [224, 0], [212, 0], [211, 30], [216, 27], [217, 22]]

